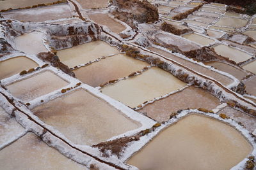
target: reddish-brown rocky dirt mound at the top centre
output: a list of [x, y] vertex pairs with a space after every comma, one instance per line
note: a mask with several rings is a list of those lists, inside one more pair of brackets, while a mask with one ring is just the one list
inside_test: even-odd
[[145, 0], [112, 0], [110, 3], [115, 6], [115, 10], [111, 13], [132, 28], [135, 28], [134, 21], [139, 23], [155, 22], [159, 17], [156, 6]]

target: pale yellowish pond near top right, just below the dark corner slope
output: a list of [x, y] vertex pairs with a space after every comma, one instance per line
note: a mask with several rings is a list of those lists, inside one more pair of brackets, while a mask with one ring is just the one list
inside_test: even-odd
[[244, 27], [247, 24], [247, 20], [243, 20], [241, 18], [232, 18], [232, 17], [221, 17], [216, 25], [226, 26], [226, 27]]

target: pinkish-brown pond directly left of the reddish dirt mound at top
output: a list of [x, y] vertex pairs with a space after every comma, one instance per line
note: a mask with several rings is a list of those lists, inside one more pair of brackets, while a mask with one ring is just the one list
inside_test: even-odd
[[108, 13], [88, 14], [88, 16], [97, 24], [106, 25], [116, 34], [125, 30], [125, 26], [110, 18]]

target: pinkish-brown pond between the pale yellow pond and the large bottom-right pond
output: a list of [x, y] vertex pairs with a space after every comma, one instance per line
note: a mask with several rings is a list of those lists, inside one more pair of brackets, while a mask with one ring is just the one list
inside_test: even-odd
[[187, 108], [205, 108], [212, 110], [220, 105], [220, 101], [206, 90], [198, 87], [188, 87], [181, 92], [172, 94], [164, 99], [155, 101], [138, 110], [157, 122], [169, 120], [170, 115], [178, 110]]

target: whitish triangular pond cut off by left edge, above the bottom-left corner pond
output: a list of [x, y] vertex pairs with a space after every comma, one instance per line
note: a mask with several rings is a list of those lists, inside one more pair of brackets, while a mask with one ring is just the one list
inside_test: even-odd
[[[2, 96], [0, 94], [0, 96]], [[12, 140], [25, 132], [25, 129], [16, 122], [3, 108], [0, 107], [0, 145]]]

